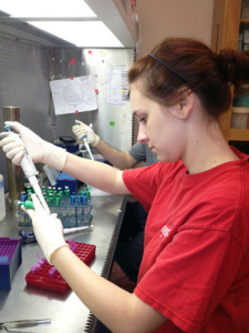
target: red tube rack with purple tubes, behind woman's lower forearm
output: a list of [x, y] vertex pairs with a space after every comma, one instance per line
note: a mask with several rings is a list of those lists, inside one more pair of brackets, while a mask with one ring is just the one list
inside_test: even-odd
[[[90, 264], [95, 256], [95, 245], [66, 242], [70, 249], [83, 261], [85, 264]], [[28, 285], [35, 286], [44, 290], [52, 290], [60, 293], [66, 293], [70, 290], [69, 284], [61, 276], [58, 270], [50, 265], [45, 259], [41, 259], [34, 264], [30, 272], [25, 275], [25, 282]]]

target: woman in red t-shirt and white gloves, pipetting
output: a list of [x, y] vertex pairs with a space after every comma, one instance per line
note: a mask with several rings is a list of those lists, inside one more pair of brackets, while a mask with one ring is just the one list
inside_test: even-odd
[[[84, 265], [66, 246], [61, 222], [33, 198], [29, 214], [38, 242], [113, 332], [248, 332], [249, 163], [227, 144], [217, 118], [230, 105], [229, 84], [249, 82], [249, 57], [166, 39], [132, 65], [128, 79], [137, 140], [159, 163], [117, 171], [10, 124], [34, 162], [107, 192], [132, 193], [149, 210], [134, 292]], [[17, 135], [1, 137], [7, 157], [19, 163], [23, 148]]]

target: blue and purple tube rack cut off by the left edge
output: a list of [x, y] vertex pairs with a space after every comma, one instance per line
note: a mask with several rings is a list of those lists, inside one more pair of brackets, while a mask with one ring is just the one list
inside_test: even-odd
[[21, 241], [0, 238], [0, 290], [11, 290], [11, 282], [21, 262]]

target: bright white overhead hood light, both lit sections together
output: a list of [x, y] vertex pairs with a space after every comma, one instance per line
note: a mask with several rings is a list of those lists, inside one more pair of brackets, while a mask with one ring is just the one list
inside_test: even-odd
[[76, 47], [124, 47], [83, 0], [8, 0], [0, 10]]

